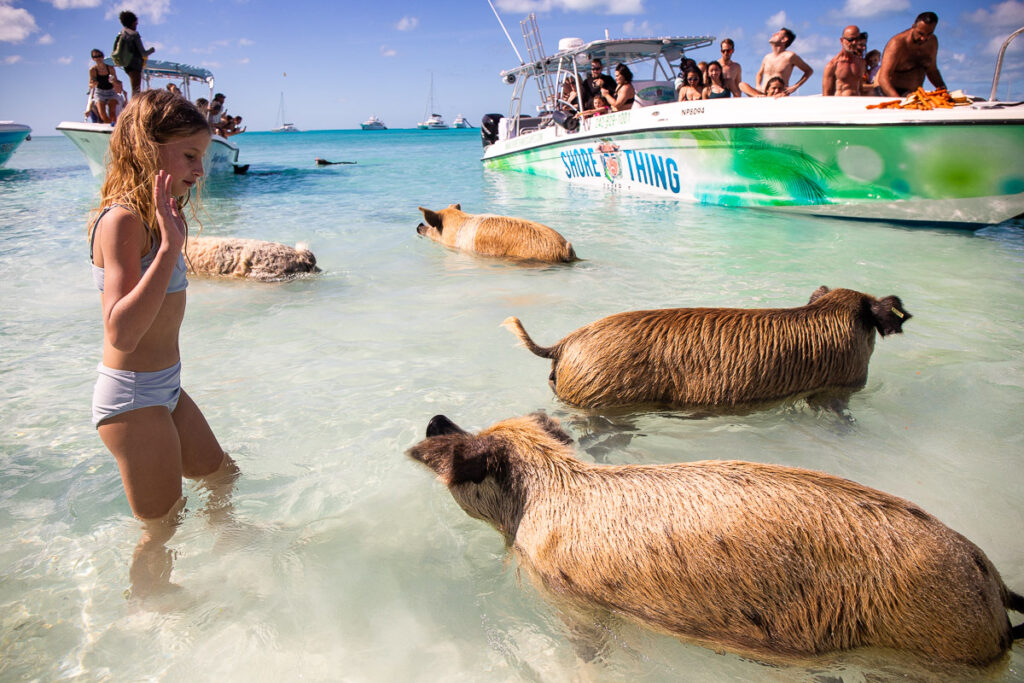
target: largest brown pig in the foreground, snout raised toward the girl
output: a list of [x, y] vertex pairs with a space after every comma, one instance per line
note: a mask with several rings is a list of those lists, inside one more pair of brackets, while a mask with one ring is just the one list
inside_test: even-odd
[[779, 465], [593, 465], [570, 443], [541, 413], [477, 434], [436, 416], [408, 455], [575, 613], [767, 658], [872, 646], [980, 666], [1024, 637], [1007, 614], [1024, 597], [905, 500]]

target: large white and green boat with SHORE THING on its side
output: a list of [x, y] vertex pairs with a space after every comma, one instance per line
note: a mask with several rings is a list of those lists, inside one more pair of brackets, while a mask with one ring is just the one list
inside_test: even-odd
[[[550, 57], [531, 50], [501, 74], [511, 105], [483, 119], [483, 165], [606, 193], [931, 226], [977, 228], [1024, 213], [1024, 102], [993, 101], [1001, 54], [989, 101], [966, 106], [867, 109], [891, 98], [819, 95], [673, 101], [671, 65], [715, 43], [572, 39]], [[633, 109], [586, 118], [556, 99], [552, 84], [579, 79], [591, 57], [630, 67]], [[545, 102], [534, 116], [524, 111], [530, 88]]]

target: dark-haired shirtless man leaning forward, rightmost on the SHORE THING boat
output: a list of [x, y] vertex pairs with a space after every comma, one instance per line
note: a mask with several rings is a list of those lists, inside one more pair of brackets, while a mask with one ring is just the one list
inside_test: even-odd
[[938, 23], [935, 12], [922, 12], [912, 27], [889, 39], [879, 67], [879, 87], [884, 94], [905, 97], [924, 85], [926, 76], [936, 88], [946, 87], [935, 63], [939, 39], [933, 34]]

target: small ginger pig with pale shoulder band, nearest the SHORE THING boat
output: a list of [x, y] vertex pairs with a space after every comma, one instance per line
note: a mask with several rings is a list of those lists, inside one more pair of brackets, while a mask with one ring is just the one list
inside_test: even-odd
[[572, 244], [552, 228], [525, 218], [464, 213], [462, 206], [431, 211], [420, 207], [423, 220], [416, 231], [445, 247], [483, 256], [549, 263], [575, 261]]

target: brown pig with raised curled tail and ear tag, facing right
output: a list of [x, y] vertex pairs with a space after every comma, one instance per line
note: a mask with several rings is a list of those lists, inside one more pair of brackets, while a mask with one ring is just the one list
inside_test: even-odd
[[551, 388], [583, 408], [736, 407], [864, 385], [874, 333], [902, 332], [898, 297], [818, 288], [797, 308], [666, 308], [608, 315], [553, 346], [502, 324], [551, 358]]

